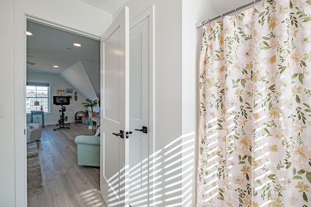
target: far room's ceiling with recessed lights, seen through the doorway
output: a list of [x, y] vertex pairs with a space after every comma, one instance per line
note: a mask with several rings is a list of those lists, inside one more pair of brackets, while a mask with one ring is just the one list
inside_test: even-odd
[[[100, 63], [100, 41], [27, 21], [27, 72], [60, 74], [78, 61]], [[75, 47], [73, 43], [80, 43]], [[58, 65], [58, 68], [53, 67]]]

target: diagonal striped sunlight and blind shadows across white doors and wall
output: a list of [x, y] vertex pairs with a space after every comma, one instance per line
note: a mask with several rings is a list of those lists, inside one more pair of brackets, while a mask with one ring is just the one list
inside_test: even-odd
[[[151, 165], [150, 168], [148, 167], [148, 161]], [[177, 138], [163, 149], [150, 155], [149, 158], [145, 158], [135, 166], [131, 166], [129, 181], [131, 185], [136, 185], [141, 191], [134, 191], [134, 188], [130, 188], [130, 205], [132, 207], [148, 207], [148, 204], [149, 207], [195, 206], [192, 200], [193, 162], [194, 133], [190, 133]], [[114, 196], [115, 192], [120, 191], [124, 194], [124, 189], [120, 189], [122, 184], [119, 186], [119, 173], [124, 174], [124, 169], [108, 179], [113, 190], [108, 190], [109, 198], [105, 202], [111, 207], [120, 205], [120, 202]], [[124, 177], [124, 175], [121, 177]], [[148, 188], [150, 195], [148, 194]]]

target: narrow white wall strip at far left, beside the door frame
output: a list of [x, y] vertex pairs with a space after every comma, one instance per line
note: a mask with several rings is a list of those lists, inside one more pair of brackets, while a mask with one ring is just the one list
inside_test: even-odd
[[[14, 162], [14, 6], [9, 0], [1, 1], [0, 25], [0, 103], [4, 104], [4, 117], [0, 117], [0, 206], [15, 204]], [[22, 116], [21, 116], [22, 117]]]

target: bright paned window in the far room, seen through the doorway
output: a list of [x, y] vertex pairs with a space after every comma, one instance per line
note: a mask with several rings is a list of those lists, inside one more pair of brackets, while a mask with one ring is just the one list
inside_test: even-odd
[[[35, 106], [35, 101], [39, 105]], [[41, 111], [50, 112], [50, 83], [47, 82], [28, 82], [26, 85], [26, 112]]]

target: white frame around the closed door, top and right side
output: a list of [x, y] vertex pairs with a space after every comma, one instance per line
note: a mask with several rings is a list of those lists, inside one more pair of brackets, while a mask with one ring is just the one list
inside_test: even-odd
[[[151, 6], [138, 17], [130, 20], [130, 30], [149, 18], [149, 206], [155, 206], [155, 6]], [[131, 16], [131, 13], [130, 13]], [[130, 54], [131, 55], [131, 54]], [[131, 69], [131, 68], [130, 68]], [[130, 139], [130, 138], [129, 138]]]

